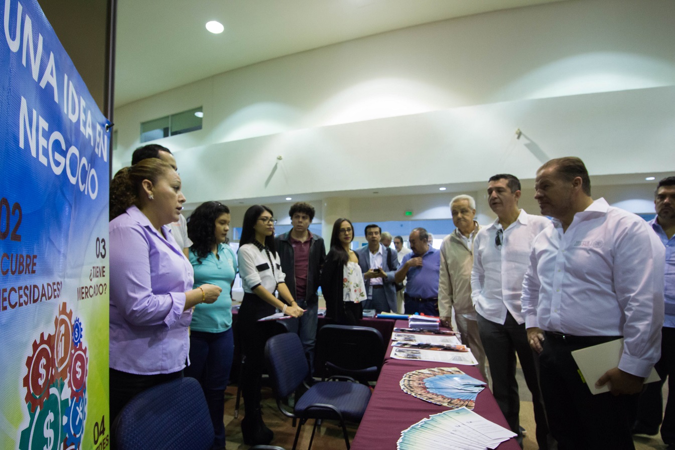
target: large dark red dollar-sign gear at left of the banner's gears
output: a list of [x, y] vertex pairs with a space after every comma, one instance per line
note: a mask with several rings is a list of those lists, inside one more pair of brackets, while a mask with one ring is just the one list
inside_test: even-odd
[[55, 358], [54, 336], [42, 333], [39, 341], [33, 341], [32, 354], [26, 358], [26, 405], [30, 412], [43, 407], [45, 399], [49, 397], [49, 387], [54, 383]]

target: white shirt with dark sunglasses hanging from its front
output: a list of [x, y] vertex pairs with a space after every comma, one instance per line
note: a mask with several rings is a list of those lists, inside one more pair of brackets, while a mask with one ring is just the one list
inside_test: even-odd
[[471, 300], [476, 312], [491, 322], [503, 325], [506, 312], [516, 322], [524, 322], [520, 313], [522, 278], [530, 262], [535, 236], [551, 221], [520, 210], [518, 219], [504, 230], [502, 245], [495, 244], [499, 219], [481, 228], [473, 246]]

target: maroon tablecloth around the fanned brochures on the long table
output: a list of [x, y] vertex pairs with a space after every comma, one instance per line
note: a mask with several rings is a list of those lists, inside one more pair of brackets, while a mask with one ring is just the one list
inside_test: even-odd
[[[397, 320], [396, 327], [407, 327], [406, 320]], [[387, 349], [382, 371], [377, 378], [375, 391], [361, 420], [352, 450], [394, 450], [400, 432], [408, 426], [419, 422], [423, 418], [447, 411], [450, 408], [434, 405], [413, 397], [402, 391], [399, 382], [406, 372], [430, 367], [439, 364], [430, 361], [396, 360], [389, 357], [391, 347]], [[483, 379], [477, 366], [457, 366], [466, 374]], [[508, 428], [504, 415], [499, 410], [497, 401], [489, 389], [483, 389], [476, 399], [474, 412], [487, 420]], [[520, 450], [516, 439], [509, 439], [497, 447], [497, 450]]]

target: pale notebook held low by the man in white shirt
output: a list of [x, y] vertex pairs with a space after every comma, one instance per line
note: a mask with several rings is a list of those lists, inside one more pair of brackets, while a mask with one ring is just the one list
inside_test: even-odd
[[[610, 391], [609, 383], [603, 387], [595, 387], [595, 382], [607, 370], [618, 367], [623, 351], [623, 338], [572, 351], [572, 358], [574, 358], [574, 362], [583, 374], [586, 385], [591, 389], [593, 395]], [[656, 373], [656, 370], [652, 369], [645, 383], [653, 383], [660, 379], [661, 377]]]

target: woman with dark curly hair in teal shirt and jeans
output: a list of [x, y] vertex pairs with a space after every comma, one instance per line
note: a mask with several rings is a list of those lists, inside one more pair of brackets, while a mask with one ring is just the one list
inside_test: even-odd
[[227, 245], [229, 208], [220, 202], [206, 202], [194, 210], [188, 221], [190, 263], [194, 288], [211, 283], [223, 289], [213, 304], [198, 304], [190, 324], [190, 366], [186, 376], [196, 378], [207, 399], [215, 441], [212, 450], [225, 449], [223, 407], [225, 388], [232, 368], [232, 283], [237, 257]]

